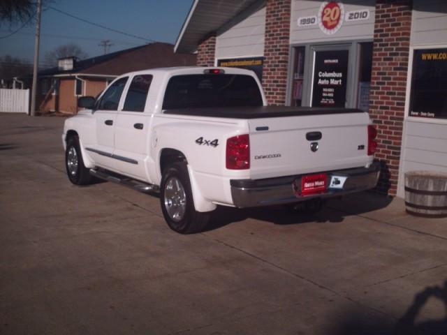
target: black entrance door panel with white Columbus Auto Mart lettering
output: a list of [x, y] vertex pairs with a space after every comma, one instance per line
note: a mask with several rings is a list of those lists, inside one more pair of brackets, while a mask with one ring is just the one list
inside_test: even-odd
[[312, 107], [345, 107], [349, 50], [315, 52]]

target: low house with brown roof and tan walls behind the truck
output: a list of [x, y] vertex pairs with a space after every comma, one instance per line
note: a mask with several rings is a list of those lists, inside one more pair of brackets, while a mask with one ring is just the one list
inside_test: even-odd
[[[75, 114], [78, 98], [97, 96], [115, 77], [123, 73], [170, 66], [196, 65], [195, 54], [175, 54], [174, 45], [150, 43], [140, 47], [77, 61], [59, 59], [55, 68], [38, 73], [38, 110]], [[15, 87], [31, 87], [31, 77], [15, 78]]]

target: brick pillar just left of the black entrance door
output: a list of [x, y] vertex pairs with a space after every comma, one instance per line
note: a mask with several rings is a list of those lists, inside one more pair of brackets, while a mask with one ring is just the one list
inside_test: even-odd
[[269, 105], [285, 105], [291, 0], [268, 0], [265, 13], [263, 88]]

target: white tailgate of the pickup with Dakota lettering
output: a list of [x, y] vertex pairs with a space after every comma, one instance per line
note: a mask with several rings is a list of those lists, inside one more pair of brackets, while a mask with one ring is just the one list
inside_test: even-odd
[[365, 112], [248, 122], [251, 179], [356, 168], [372, 161], [367, 156], [369, 117]]

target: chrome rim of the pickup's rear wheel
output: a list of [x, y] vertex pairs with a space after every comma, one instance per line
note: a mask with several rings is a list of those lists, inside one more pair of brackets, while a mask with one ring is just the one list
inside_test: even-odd
[[164, 189], [164, 204], [168, 216], [175, 222], [182, 221], [186, 213], [186, 193], [182, 182], [176, 177], [166, 181]]

